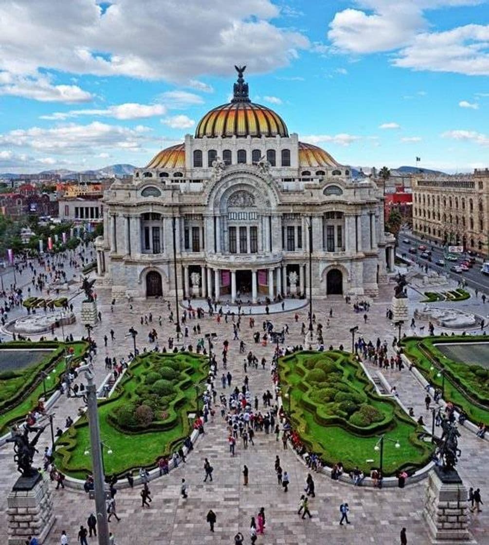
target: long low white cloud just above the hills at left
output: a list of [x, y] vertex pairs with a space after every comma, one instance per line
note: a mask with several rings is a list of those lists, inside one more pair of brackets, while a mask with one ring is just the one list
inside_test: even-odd
[[51, 154], [97, 155], [104, 149], [140, 151], [141, 144], [150, 140], [150, 129], [134, 129], [93, 122], [88, 125], [70, 123], [51, 129], [32, 127], [16, 129], [0, 135], [0, 146], [22, 147]]

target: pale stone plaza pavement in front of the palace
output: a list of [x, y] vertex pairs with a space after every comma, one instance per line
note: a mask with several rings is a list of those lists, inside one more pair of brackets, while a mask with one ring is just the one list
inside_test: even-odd
[[[138, 348], [148, 346], [147, 332], [153, 327], [158, 331], [160, 346], [166, 344], [168, 336], [174, 336], [174, 327], [168, 323], [166, 301], [134, 301], [132, 310], [127, 302], [117, 302], [114, 312], [111, 313], [111, 294], [108, 289], [97, 289], [98, 306], [102, 312], [102, 322], [92, 332], [98, 343], [98, 353], [95, 358], [95, 375], [97, 383], [105, 376], [104, 358], [106, 354], [120, 358], [126, 356], [132, 349], [132, 338], [125, 337], [130, 326], [135, 326], [139, 332], [137, 336]], [[391, 298], [391, 286], [383, 290], [381, 296], [374, 300], [369, 312], [367, 323], [363, 323], [363, 312], [354, 313], [352, 305], [346, 305], [342, 298], [315, 300], [313, 312], [317, 321], [324, 327], [330, 308], [333, 308], [333, 318], [330, 328], [324, 329], [324, 339], [327, 346], [331, 343], [335, 348], [342, 343], [345, 349], [351, 347], [349, 328], [360, 326], [360, 334], [366, 339], [375, 341], [377, 336], [388, 341], [389, 346], [396, 329], [385, 318], [385, 310]], [[75, 312], [79, 310], [82, 296], [74, 299]], [[479, 299], [480, 301], [480, 299]], [[475, 302], [475, 301], [474, 301]], [[473, 302], [473, 303], [474, 303]], [[480, 301], [481, 304], [481, 301]], [[412, 305], [410, 305], [412, 307]], [[173, 305], [172, 305], [173, 308]], [[140, 324], [140, 316], [153, 313], [153, 324]], [[300, 335], [301, 322], [307, 323], [307, 307], [299, 311], [299, 322], [294, 322], [294, 311], [275, 314], [271, 317], [275, 328], [289, 325], [290, 335], [287, 344], [303, 342]], [[164, 318], [162, 327], [158, 326], [158, 316]], [[79, 313], [77, 313], [79, 316]], [[214, 343], [216, 353], [220, 355], [222, 341], [230, 341], [230, 355], [228, 370], [233, 375], [232, 387], [242, 385], [244, 377], [243, 355], [239, 354], [239, 343], [232, 341], [232, 324], [225, 324], [224, 320], [218, 325], [215, 319], [200, 320], [202, 335], [205, 332], [215, 331], [218, 338]], [[189, 322], [192, 344], [196, 338], [192, 335], [192, 320]], [[266, 370], [249, 370], [250, 389], [260, 399], [266, 389], [272, 387], [269, 374], [269, 363], [273, 355], [274, 346], [262, 347], [252, 340], [252, 333], [256, 329], [262, 330], [261, 320], [256, 317], [255, 329], [250, 329], [248, 319], [242, 320], [240, 337], [246, 342], [246, 351], [251, 349], [258, 359], [267, 358]], [[109, 331], [116, 331], [116, 341], [110, 341]], [[73, 332], [75, 338], [84, 334], [84, 328], [76, 323], [66, 328]], [[409, 330], [406, 332], [409, 334]], [[109, 337], [108, 347], [104, 348], [103, 336]], [[220, 358], [218, 358], [218, 378], [221, 373]], [[413, 406], [416, 417], [424, 416], [426, 422], [431, 421], [431, 415], [424, 410], [425, 392], [408, 370], [384, 372], [391, 384], [395, 384], [400, 399], [406, 405]], [[222, 391], [220, 381], [216, 383], [218, 393]], [[229, 392], [229, 389], [226, 389]], [[74, 416], [78, 403], [75, 399], [62, 397], [53, 409], [56, 413], [55, 426], [64, 426], [65, 416]], [[206, 434], [198, 440], [194, 451], [190, 453], [186, 464], [172, 471], [170, 475], [156, 479], [150, 483], [153, 502], [150, 509], [141, 509], [140, 488], [134, 490], [122, 489], [116, 495], [117, 512], [120, 522], [110, 523], [110, 530], [116, 536], [119, 545], [147, 545], [148, 543], [164, 543], [169, 545], [193, 545], [202, 543], [233, 543], [233, 536], [239, 530], [249, 543], [250, 517], [256, 516], [260, 507], [265, 507], [267, 526], [265, 535], [259, 536], [257, 543], [276, 545], [303, 545], [304, 543], [328, 543], [331, 545], [351, 544], [365, 545], [366, 543], [399, 543], [399, 532], [406, 526], [408, 543], [428, 545], [426, 525], [422, 520], [422, 503], [424, 500], [425, 482], [407, 486], [404, 489], [384, 488], [354, 488], [345, 483], [331, 481], [328, 476], [313, 474], [316, 481], [316, 498], [310, 500], [312, 519], [302, 520], [297, 515], [299, 496], [304, 490], [304, 481], [307, 475], [306, 468], [297, 460], [292, 450], [283, 450], [282, 443], [275, 442], [274, 435], [256, 434], [256, 446], [250, 445], [243, 450], [242, 444], [237, 443], [237, 455], [230, 457], [227, 445], [227, 433], [224, 422], [219, 413], [215, 422], [206, 425]], [[39, 451], [49, 443], [49, 432], [41, 437]], [[137, 439], [135, 448], [137, 448]], [[489, 505], [488, 493], [489, 451], [487, 443], [480, 441], [474, 434], [462, 429], [460, 441], [462, 457], [458, 469], [467, 486], [481, 488], [482, 500]], [[387, 447], [386, 447], [387, 448]], [[289, 492], [283, 493], [277, 485], [274, 459], [278, 454], [281, 458], [283, 470], [288, 471], [291, 479]], [[117, 452], [114, 452], [117, 456]], [[366, 453], [366, 458], [375, 458], [375, 452]], [[203, 482], [204, 457], [209, 458], [214, 467], [213, 482]], [[5, 510], [7, 507], [7, 492], [16, 480], [17, 474], [13, 463], [11, 446], [0, 449], [0, 476], [2, 482], [2, 499], [0, 500], [1, 524], [0, 539], [7, 542], [7, 525]], [[39, 456], [40, 461], [40, 456]], [[241, 471], [246, 464], [250, 471], [249, 486], [243, 486]], [[183, 500], [179, 496], [180, 481], [185, 477], [189, 484], [189, 498]], [[88, 514], [94, 509], [93, 500], [83, 492], [75, 490], [55, 490], [51, 485], [55, 502], [57, 520], [46, 543], [59, 543], [59, 536], [63, 529], [70, 536], [70, 544], [76, 542], [80, 524], [86, 525]], [[352, 524], [339, 526], [339, 505], [347, 501], [351, 513], [349, 519]], [[206, 514], [212, 508], [217, 515], [216, 531], [212, 534], [206, 523]], [[479, 545], [489, 544], [489, 517], [487, 508], [482, 507], [482, 513], [470, 515], [470, 530]], [[90, 543], [96, 540], [89, 539]]]

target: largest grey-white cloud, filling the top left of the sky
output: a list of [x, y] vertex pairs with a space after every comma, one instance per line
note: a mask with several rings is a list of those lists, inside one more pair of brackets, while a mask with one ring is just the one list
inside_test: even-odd
[[270, 0], [118, 0], [104, 13], [93, 0], [4, 0], [0, 70], [32, 75], [42, 67], [180, 84], [203, 74], [229, 77], [237, 62], [263, 73], [309, 47], [303, 33], [274, 25], [279, 15]]

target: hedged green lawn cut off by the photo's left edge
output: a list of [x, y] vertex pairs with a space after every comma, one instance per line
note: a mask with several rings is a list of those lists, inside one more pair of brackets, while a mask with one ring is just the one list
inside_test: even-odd
[[[5, 375], [0, 379], [0, 434], [8, 432], [9, 425], [23, 417], [38, 403], [40, 397], [44, 397], [43, 381], [40, 379], [40, 371], [50, 372], [46, 378], [46, 393], [49, 397], [55, 391], [59, 377], [65, 371], [65, 360], [63, 358], [64, 348], [73, 347], [74, 358], [71, 365], [79, 360], [87, 348], [87, 343], [57, 343], [57, 342], [11, 342], [2, 344], [2, 348], [19, 348], [28, 350], [29, 348], [52, 348], [53, 352], [45, 356], [37, 365], [25, 367], [15, 371], [13, 374]], [[15, 357], [13, 353], [13, 357]], [[10, 372], [9, 372], [10, 373]]]

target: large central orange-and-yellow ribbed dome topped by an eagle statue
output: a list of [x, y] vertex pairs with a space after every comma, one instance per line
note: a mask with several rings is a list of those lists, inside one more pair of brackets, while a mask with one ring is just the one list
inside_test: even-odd
[[196, 138], [288, 136], [287, 126], [279, 114], [249, 99], [248, 85], [243, 79], [245, 68], [236, 66], [238, 81], [234, 83], [233, 99], [206, 113], [197, 125]]

